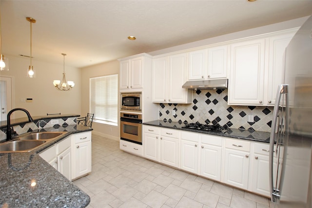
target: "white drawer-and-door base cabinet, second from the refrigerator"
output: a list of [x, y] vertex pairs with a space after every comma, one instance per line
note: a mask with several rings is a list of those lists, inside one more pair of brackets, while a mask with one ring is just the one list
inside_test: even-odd
[[224, 158], [224, 182], [248, 189], [250, 142], [241, 139], [226, 139]]

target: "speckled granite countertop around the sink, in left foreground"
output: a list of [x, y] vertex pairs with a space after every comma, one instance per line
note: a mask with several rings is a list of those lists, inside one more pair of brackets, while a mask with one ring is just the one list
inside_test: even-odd
[[[59, 117], [58, 117], [59, 118]], [[90, 197], [42, 159], [38, 153], [71, 134], [92, 131], [82, 125], [37, 130], [68, 132], [29, 153], [0, 154], [0, 207], [84, 208]], [[31, 183], [37, 185], [32, 187]]]

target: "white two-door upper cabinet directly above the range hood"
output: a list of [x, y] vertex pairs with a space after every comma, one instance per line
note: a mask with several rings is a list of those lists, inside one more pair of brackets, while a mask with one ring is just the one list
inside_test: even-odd
[[188, 55], [188, 80], [207, 80], [227, 77], [227, 45], [189, 52]]

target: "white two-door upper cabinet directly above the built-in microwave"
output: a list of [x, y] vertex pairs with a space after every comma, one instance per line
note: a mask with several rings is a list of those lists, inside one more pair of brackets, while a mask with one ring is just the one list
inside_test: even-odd
[[[145, 70], [151, 70], [151, 57], [147, 54], [119, 59], [119, 89], [120, 91], [137, 91], [144, 87]], [[139, 90], [140, 91], [140, 90]]]

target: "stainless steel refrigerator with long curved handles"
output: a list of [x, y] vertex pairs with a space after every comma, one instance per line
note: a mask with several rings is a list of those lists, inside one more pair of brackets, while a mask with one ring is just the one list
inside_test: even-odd
[[270, 141], [273, 207], [312, 208], [312, 16], [285, 52]]

